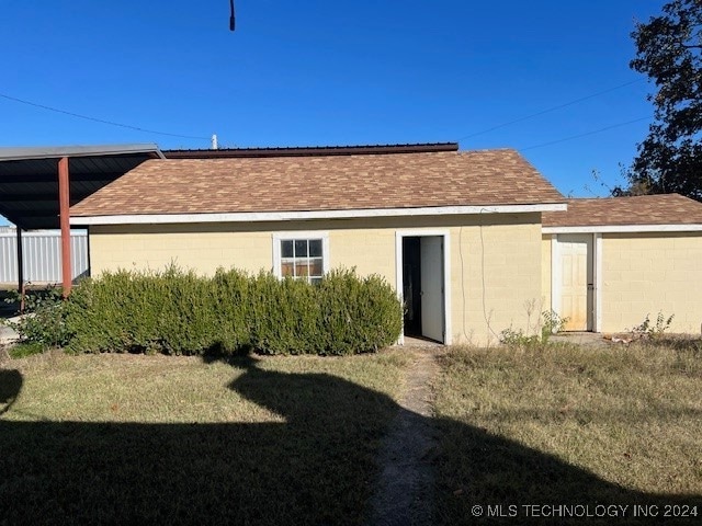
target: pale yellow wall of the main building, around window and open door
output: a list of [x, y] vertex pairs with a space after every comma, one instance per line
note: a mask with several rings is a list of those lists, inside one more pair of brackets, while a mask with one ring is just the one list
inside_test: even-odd
[[543, 310], [539, 214], [91, 227], [91, 273], [171, 262], [205, 275], [219, 266], [271, 270], [273, 232], [324, 231], [331, 268], [355, 266], [395, 287], [396, 232], [422, 230], [450, 237], [453, 343], [496, 343], [510, 325], [535, 330]]

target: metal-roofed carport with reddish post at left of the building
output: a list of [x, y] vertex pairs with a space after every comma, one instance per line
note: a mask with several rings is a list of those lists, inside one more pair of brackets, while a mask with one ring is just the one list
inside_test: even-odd
[[0, 148], [0, 214], [16, 225], [18, 286], [24, 285], [22, 231], [61, 230], [64, 294], [71, 288], [71, 205], [147, 159], [163, 159], [155, 144]]

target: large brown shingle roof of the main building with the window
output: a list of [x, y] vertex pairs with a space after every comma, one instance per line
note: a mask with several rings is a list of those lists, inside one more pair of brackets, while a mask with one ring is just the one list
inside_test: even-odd
[[564, 203], [514, 150], [149, 160], [72, 216]]

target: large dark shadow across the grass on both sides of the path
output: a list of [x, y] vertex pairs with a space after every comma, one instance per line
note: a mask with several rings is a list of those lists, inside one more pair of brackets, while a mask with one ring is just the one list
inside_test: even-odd
[[[333, 376], [269, 371], [251, 357], [229, 363], [246, 370], [229, 388], [284, 422], [0, 420], [0, 523], [362, 523], [380, 442], [390, 419], [404, 410], [384, 395]], [[19, 390], [21, 377], [12, 381]], [[7, 392], [7, 399], [16, 397], [12, 389]], [[432, 424], [443, 436], [438, 462], [448, 476], [439, 488], [443, 498], [434, 524], [474, 523], [476, 503], [683, 503], [702, 512], [700, 495], [629, 491], [483, 430], [452, 421]], [[465, 462], [455, 471], [471, 473], [469, 480], [452, 480], [448, 461], [455, 468]], [[529, 521], [522, 514], [491, 522]]]

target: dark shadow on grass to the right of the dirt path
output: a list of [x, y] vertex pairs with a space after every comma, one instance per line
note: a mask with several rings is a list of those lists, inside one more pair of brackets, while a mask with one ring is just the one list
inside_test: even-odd
[[[478, 427], [442, 420], [439, 428], [442, 453], [438, 467], [441, 484], [437, 524], [672, 525], [699, 524], [702, 515], [702, 495], [699, 494], [632, 491]], [[621, 458], [614, 458], [615, 455], [612, 453], [612, 462], [626, 461], [621, 455]], [[666, 466], [665, 459], [661, 465]], [[675, 471], [666, 468], [661, 476]], [[476, 504], [483, 506], [479, 519], [474, 516]], [[528, 508], [529, 505], [537, 507]], [[559, 505], [564, 506], [561, 512], [556, 508]], [[488, 506], [492, 516], [487, 516]], [[639, 506], [637, 516], [634, 506]], [[666, 512], [670, 516], [665, 516]], [[564, 515], [554, 517], [555, 513]], [[644, 517], [644, 513], [652, 516]], [[679, 516], [683, 513], [687, 516]], [[547, 514], [552, 516], [544, 516]]]

